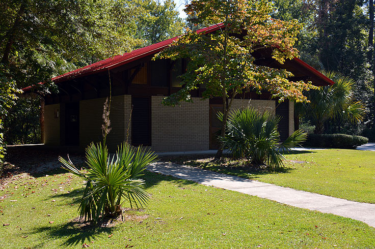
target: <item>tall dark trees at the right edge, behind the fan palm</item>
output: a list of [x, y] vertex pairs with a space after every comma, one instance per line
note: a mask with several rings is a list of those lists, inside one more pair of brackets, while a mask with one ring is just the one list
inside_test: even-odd
[[[296, 47], [318, 70], [336, 71], [354, 80], [353, 97], [365, 107], [363, 120], [328, 119], [327, 133], [365, 134], [375, 139], [373, 1], [275, 0], [273, 16], [298, 19], [303, 29]], [[372, 14], [371, 14], [372, 13]]]

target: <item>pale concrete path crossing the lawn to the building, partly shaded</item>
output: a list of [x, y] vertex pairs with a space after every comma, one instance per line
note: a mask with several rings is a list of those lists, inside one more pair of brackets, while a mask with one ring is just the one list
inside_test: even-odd
[[154, 163], [148, 167], [148, 170], [195, 181], [204, 185], [216, 186], [218, 188], [274, 200], [290, 206], [349, 217], [375, 227], [375, 204], [348, 201], [293, 190], [270, 183], [248, 180], [173, 163]]

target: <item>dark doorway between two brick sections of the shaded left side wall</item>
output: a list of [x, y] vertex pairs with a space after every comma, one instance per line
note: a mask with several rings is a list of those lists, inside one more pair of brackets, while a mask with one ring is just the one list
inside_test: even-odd
[[79, 102], [65, 104], [65, 145], [79, 145]]

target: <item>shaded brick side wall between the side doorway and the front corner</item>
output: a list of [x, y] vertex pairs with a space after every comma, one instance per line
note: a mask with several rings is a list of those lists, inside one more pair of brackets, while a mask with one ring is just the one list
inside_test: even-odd
[[[79, 146], [86, 147], [91, 142], [102, 141], [101, 125], [104, 102], [105, 98], [79, 102]], [[130, 109], [130, 95], [112, 97], [110, 114], [112, 130], [107, 138], [107, 144], [111, 151], [114, 151], [117, 145], [126, 138]]]

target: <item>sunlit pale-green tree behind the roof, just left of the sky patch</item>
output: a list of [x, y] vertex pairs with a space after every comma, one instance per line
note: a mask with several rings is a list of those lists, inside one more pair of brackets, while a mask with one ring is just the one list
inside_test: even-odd
[[151, 45], [182, 34], [184, 23], [178, 17], [173, 0], [139, 0], [135, 2], [144, 15], [137, 17], [136, 37]]

